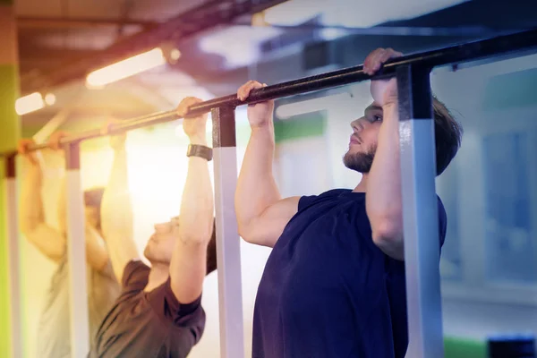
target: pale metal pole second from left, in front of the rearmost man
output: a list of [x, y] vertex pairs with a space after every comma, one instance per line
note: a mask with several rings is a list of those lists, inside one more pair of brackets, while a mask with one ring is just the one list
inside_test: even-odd
[[[90, 319], [86, 285], [86, 222], [81, 190], [80, 143], [65, 148], [67, 184], [67, 255], [69, 267], [69, 308], [71, 311], [71, 356], [90, 352]], [[65, 337], [66, 338], [66, 337]]]

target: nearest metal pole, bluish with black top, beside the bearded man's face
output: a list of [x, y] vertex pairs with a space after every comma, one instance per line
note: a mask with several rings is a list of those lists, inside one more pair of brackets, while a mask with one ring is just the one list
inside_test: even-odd
[[439, 215], [430, 68], [397, 69], [405, 235], [407, 357], [442, 358]]

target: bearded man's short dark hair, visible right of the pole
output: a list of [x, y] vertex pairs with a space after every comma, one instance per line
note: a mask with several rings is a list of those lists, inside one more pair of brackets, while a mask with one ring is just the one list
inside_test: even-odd
[[437, 175], [446, 170], [456, 152], [461, 146], [463, 127], [456, 122], [455, 118], [446, 105], [435, 96], [432, 97], [434, 114], [434, 140], [436, 142], [436, 169]]

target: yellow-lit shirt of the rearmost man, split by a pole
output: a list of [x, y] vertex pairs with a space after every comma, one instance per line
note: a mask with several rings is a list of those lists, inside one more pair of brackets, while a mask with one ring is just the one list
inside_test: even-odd
[[[111, 265], [105, 272], [87, 265], [90, 343], [107, 315], [121, 288]], [[47, 291], [45, 306], [39, 318], [37, 352], [39, 358], [70, 358], [69, 267], [67, 257], [60, 261]]]

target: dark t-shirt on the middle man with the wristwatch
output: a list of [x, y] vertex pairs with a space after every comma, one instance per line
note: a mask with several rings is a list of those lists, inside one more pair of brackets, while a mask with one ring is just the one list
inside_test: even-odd
[[89, 358], [185, 358], [205, 328], [201, 296], [179, 303], [170, 278], [150, 292], [150, 268], [133, 260], [124, 268], [123, 291], [98, 329]]

